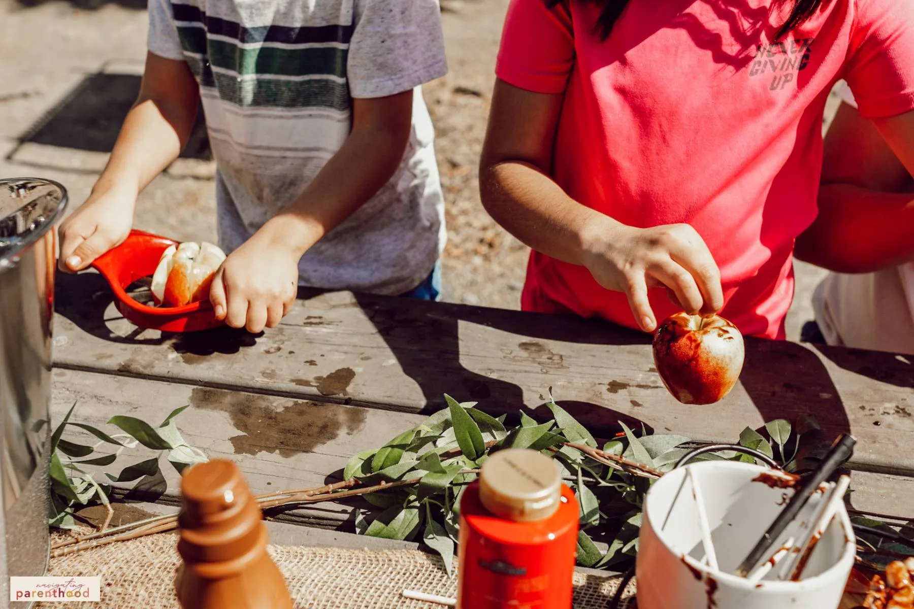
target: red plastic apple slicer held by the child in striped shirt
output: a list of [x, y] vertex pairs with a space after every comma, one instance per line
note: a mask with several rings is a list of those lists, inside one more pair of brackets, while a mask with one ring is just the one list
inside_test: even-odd
[[164, 236], [133, 230], [124, 242], [92, 263], [112, 287], [114, 304], [125, 320], [140, 328], [164, 332], [194, 332], [222, 325], [208, 300], [184, 307], [150, 307], [127, 294], [134, 282], [153, 275], [159, 259], [177, 242]]

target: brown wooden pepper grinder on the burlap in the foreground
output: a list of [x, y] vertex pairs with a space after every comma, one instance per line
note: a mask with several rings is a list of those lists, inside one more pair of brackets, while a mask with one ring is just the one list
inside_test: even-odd
[[201, 463], [181, 480], [184, 559], [175, 582], [184, 609], [292, 609], [282, 572], [267, 553], [260, 506], [238, 466]]

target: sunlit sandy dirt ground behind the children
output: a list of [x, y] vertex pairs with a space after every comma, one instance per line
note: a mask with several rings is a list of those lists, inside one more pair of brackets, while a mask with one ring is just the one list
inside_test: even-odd
[[[528, 250], [485, 214], [477, 163], [507, 0], [441, 0], [451, 71], [425, 87], [437, 131], [449, 241], [444, 297], [490, 307], [519, 306]], [[71, 210], [90, 192], [107, 155], [22, 143], [79, 92], [92, 74], [137, 75], [145, 54], [143, 0], [0, 0], [0, 175], [56, 179]], [[834, 104], [833, 104], [834, 105]], [[103, 98], [89, 112], [105, 116]], [[215, 238], [212, 164], [176, 162], [141, 195], [137, 226], [177, 239]], [[812, 318], [809, 299], [822, 271], [797, 266], [790, 338]]]

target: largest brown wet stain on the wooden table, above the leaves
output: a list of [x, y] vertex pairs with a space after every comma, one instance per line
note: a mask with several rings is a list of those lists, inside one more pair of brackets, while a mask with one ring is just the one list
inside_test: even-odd
[[241, 432], [228, 438], [236, 455], [278, 453], [293, 457], [312, 453], [340, 434], [354, 434], [365, 426], [366, 411], [340, 404], [295, 401], [277, 408], [269, 395], [225, 392], [197, 387], [190, 404], [201, 410], [227, 413]]

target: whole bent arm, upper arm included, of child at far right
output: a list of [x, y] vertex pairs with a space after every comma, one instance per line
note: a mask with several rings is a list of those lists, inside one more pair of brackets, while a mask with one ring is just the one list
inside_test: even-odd
[[873, 122], [843, 103], [825, 135], [819, 215], [796, 257], [844, 273], [914, 259], [910, 180]]

